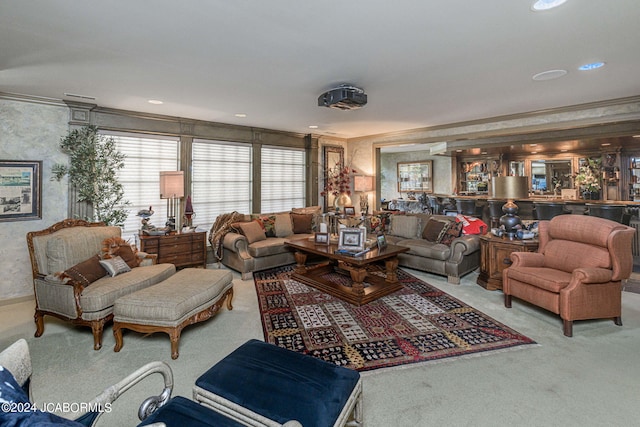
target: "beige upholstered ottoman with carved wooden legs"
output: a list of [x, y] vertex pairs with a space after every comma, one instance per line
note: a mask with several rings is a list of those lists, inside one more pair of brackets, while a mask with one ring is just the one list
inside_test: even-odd
[[185, 268], [157, 285], [116, 300], [113, 308], [114, 351], [122, 348], [122, 330], [165, 332], [171, 358], [178, 358], [178, 341], [185, 326], [215, 315], [226, 298], [232, 310], [233, 276], [228, 270]]

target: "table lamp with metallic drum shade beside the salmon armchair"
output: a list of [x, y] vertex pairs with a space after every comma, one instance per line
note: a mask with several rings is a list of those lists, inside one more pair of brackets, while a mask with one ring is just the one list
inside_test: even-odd
[[507, 203], [502, 206], [504, 215], [500, 217], [500, 225], [504, 227], [509, 239], [513, 240], [518, 232], [518, 225], [522, 224], [514, 199], [529, 197], [529, 177], [497, 176], [491, 181], [491, 187], [494, 198], [507, 199]]

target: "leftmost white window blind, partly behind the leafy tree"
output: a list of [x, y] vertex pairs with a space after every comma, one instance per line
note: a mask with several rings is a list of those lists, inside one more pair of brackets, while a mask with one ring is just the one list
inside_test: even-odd
[[125, 200], [131, 204], [127, 206], [129, 216], [122, 238], [134, 243], [141, 226], [142, 218], [136, 216], [140, 209], [151, 206], [154, 214], [150, 223], [165, 226], [167, 201], [160, 199], [160, 171], [179, 170], [180, 143], [177, 138], [106, 132], [104, 135], [113, 137], [118, 150], [126, 155], [118, 179], [124, 186]]

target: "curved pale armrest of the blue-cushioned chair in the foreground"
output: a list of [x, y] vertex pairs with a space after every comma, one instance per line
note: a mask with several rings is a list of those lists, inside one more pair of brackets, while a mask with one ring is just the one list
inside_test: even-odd
[[171, 398], [173, 391], [173, 372], [165, 362], [147, 363], [131, 375], [127, 376], [117, 384], [106, 388], [102, 393], [91, 400], [86, 406], [86, 410], [77, 413], [84, 421], [90, 421], [89, 425], [95, 425], [105, 408], [109, 408], [124, 392], [145, 379], [151, 374], [158, 373], [164, 380], [164, 389], [158, 396], [151, 396], [142, 402], [138, 409], [138, 418], [144, 420], [158, 408], [166, 404]]

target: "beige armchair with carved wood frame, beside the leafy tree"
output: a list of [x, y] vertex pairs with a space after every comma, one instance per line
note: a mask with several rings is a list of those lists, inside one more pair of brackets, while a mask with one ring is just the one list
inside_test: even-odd
[[[119, 227], [75, 219], [27, 233], [36, 299], [36, 337], [44, 332], [44, 316], [55, 316], [76, 325], [89, 326], [93, 331], [93, 347], [99, 350], [104, 325], [113, 319], [115, 300], [175, 273], [173, 264], [155, 264], [154, 258], [147, 261], [151, 265], [131, 268], [113, 277], [98, 268], [93, 274], [95, 280], [92, 280], [84, 270], [79, 271], [78, 266], [85, 261], [91, 259], [95, 264], [98, 262], [96, 256], [112, 254], [112, 248], [105, 247], [105, 242], [120, 235]], [[72, 269], [77, 273], [74, 277], [65, 274]]]

